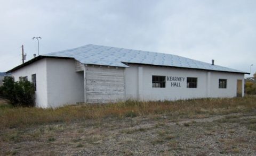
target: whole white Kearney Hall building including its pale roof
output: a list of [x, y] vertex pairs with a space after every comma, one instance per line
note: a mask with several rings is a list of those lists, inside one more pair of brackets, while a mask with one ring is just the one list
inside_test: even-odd
[[246, 74], [177, 55], [97, 45], [37, 56], [8, 72], [15, 81], [34, 82], [37, 107], [244, 96]]

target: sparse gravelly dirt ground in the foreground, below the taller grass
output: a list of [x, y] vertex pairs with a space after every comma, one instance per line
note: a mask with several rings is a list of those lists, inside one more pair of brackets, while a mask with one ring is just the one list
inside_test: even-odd
[[0, 131], [1, 155], [256, 155], [256, 112], [107, 118]]

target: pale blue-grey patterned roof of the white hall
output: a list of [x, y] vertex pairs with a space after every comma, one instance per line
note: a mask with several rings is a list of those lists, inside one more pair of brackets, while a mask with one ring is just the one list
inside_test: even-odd
[[42, 56], [75, 58], [82, 64], [129, 67], [124, 63], [196, 68], [201, 70], [246, 73], [232, 68], [222, 67], [189, 59], [177, 55], [150, 51], [124, 49], [108, 46], [85, 45], [82, 47], [49, 53]]

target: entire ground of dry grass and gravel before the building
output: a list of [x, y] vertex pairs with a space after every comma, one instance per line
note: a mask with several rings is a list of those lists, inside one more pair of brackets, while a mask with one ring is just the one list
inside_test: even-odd
[[0, 101], [3, 155], [255, 155], [256, 97], [57, 109]]

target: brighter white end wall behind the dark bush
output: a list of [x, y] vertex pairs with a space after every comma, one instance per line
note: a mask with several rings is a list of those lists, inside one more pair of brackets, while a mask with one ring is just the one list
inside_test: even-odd
[[12, 72], [15, 81], [19, 81], [20, 76], [28, 76], [28, 81], [31, 81], [32, 74], [36, 74], [36, 107], [47, 107], [46, 59], [38, 60]]

